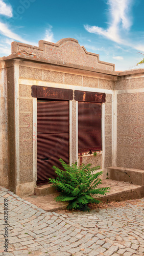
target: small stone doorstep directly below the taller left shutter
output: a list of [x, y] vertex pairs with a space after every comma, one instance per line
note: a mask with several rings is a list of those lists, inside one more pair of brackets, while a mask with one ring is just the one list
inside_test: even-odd
[[57, 189], [52, 187], [52, 184], [40, 185], [34, 188], [34, 194], [39, 197], [55, 194], [57, 192]]

